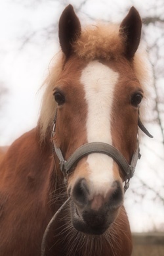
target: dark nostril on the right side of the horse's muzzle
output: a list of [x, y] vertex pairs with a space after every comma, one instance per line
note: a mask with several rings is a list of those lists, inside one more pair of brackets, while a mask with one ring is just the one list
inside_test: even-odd
[[121, 188], [121, 184], [118, 181], [113, 182], [112, 188], [113, 190], [110, 194], [108, 203], [110, 208], [115, 209], [123, 203], [123, 190]]

